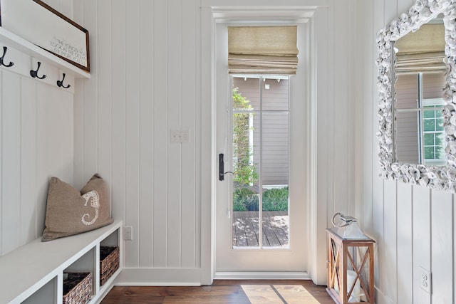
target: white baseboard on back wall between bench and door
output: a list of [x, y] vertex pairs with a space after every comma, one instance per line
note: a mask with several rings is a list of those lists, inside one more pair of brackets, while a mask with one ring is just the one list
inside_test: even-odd
[[201, 268], [123, 268], [116, 286], [199, 286]]

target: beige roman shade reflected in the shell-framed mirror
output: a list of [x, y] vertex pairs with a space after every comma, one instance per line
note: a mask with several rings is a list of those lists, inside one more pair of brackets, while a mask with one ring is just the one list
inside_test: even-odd
[[432, 72], [445, 70], [445, 28], [442, 23], [423, 24], [395, 43], [395, 72]]

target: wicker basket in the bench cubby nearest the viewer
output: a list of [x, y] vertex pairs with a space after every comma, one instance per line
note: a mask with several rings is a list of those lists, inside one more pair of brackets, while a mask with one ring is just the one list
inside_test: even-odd
[[92, 298], [92, 273], [64, 273], [63, 304], [88, 303]]

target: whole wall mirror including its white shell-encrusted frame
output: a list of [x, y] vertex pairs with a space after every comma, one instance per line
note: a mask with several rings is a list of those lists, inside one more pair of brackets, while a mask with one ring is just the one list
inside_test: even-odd
[[456, 0], [417, 0], [378, 32], [377, 137], [386, 179], [456, 192], [455, 7]]

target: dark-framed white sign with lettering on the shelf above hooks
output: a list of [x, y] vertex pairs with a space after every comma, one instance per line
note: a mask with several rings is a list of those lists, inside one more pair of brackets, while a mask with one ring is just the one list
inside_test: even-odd
[[40, 0], [0, 0], [0, 26], [90, 71], [88, 31]]

